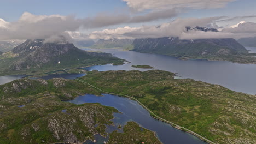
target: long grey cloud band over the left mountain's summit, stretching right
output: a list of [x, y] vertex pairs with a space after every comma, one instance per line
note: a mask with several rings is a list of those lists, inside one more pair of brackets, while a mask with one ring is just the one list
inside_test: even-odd
[[[176, 16], [175, 9], [153, 11], [146, 15], [106, 14], [76, 19], [74, 15], [33, 15], [25, 12], [18, 21], [7, 22], [0, 19], [0, 40], [9, 39], [46, 39], [66, 35], [67, 31], [79, 28], [100, 28], [122, 23], [140, 23]], [[62, 38], [61, 38], [62, 39]]]

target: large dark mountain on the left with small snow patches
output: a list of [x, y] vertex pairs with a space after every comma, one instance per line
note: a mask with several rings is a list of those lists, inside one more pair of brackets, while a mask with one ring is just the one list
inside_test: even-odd
[[3, 53], [0, 59], [2, 73], [123, 63], [123, 60], [107, 53], [87, 52], [70, 43], [44, 43], [44, 40], [39, 39], [25, 41], [13, 50]]

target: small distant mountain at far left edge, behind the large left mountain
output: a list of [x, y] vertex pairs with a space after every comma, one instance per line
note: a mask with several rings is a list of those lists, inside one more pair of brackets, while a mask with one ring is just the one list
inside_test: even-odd
[[12, 50], [14, 47], [18, 46], [19, 44], [23, 43], [24, 40], [7, 40], [7, 41], [0, 41], [0, 51], [8, 52]]

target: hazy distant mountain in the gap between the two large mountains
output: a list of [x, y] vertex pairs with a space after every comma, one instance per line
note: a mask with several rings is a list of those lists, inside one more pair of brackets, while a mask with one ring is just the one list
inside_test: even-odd
[[91, 48], [104, 49], [104, 48], [116, 48], [116, 47], [128, 47], [132, 44], [133, 40], [131, 39], [109, 39], [98, 40], [94, 45], [90, 46]]

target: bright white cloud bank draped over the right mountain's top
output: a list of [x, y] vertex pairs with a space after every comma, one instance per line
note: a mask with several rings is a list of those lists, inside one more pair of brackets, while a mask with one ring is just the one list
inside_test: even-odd
[[119, 27], [116, 29], [104, 29], [94, 31], [86, 38], [89, 39], [136, 39], [136, 38], [160, 38], [179, 37], [180, 39], [214, 39], [214, 38], [244, 38], [256, 36], [256, 23], [240, 23], [236, 27], [223, 28], [219, 32], [203, 32], [196, 29], [187, 31], [185, 27], [212, 27], [218, 28], [216, 20], [222, 17], [208, 17], [202, 19], [176, 19], [160, 26]]

